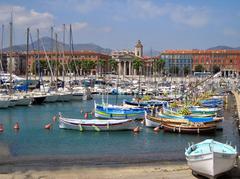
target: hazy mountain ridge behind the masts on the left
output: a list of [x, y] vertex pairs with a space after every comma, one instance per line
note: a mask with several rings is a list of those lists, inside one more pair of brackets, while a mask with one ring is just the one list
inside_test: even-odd
[[[56, 49], [56, 41], [51, 39], [50, 37], [42, 37], [39, 40], [39, 46], [40, 46], [40, 50], [45, 50], [46, 51], [51, 51], [52, 48], [55, 50]], [[58, 42], [58, 50], [62, 50], [64, 46], [64, 43], [62, 42]], [[110, 54], [111, 53], [111, 49], [109, 48], [103, 48], [100, 47], [96, 44], [93, 43], [87, 43], [87, 44], [74, 44], [73, 45], [74, 50], [90, 50], [90, 51], [95, 51], [95, 52], [99, 52], [99, 53], [105, 53], [105, 54]], [[34, 41], [32, 43], [29, 44], [29, 50], [37, 50], [38, 49], [38, 41]], [[65, 44], [64, 46], [65, 50], [69, 50], [70, 49], [70, 45], [69, 44]], [[10, 48], [4, 48], [3, 51], [9, 51]], [[23, 51], [27, 51], [27, 45], [26, 44], [22, 44], [22, 45], [14, 45], [13, 46], [13, 51], [15, 52], [23, 52]]]

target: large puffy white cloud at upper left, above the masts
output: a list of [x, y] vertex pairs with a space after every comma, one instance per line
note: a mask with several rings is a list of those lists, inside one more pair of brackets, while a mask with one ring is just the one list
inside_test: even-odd
[[49, 28], [53, 24], [53, 15], [47, 12], [40, 13], [34, 9], [27, 10], [22, 6], [1, 5], [0, 23], [8, 24], [13, 12], [13, 23], [16, 28]]

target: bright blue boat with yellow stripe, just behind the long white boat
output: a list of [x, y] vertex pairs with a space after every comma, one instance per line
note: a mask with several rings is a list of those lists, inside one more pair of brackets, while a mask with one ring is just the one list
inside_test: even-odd
[[143, 108], [130, 108], [110, 104], [95, 103], [95, 117], [104, 119], [143, 119]]

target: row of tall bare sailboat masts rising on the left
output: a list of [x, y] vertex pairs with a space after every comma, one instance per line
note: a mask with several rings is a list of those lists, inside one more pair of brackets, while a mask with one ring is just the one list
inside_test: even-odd
[[[10, 53], [9, 53], [9, 63], [8, 63], [8, 71], [10, 73], [10, 85], [9, 85], [9, 93], [12, 94], [13, 93], [13, 18], [11, 16], [11, 21], [9, 23], [10, 25], [10, 37], [9, 37], [9, 49], [10, 49]], [[74, 52], [74, 48], [73, 48], [73, 35], [72, 35], [72, 26], [70, 25], [70, 36], [69, 36], [69, 43], [70, 43], [70, 52], [71, 52], [71, 56], [70, 58], [72, 59], [73, 63], [74, 63], [74, 66], [75, 66], [75, 70], [76, 70], [76, 73], [78, 74], [78, 69], [77, 69], [77, 66], [76, 66], [76, 62], [75, 62], [75, 59], [73, 57], [73, 52]], [[61, 65], [62, 65], [62, 80], [63, 82], [65, 81], [65, 54], [64, 54], [64, 50], [65, 50], [65, 33], [66, 33], [66, 25], [63, 24], [63, 45], [62, 45], [62, 60], [61, 60]], [[53, 27], [51, 27], [51, 39], [53, 39], [53, 34], [54, 34], [54, 29]], [[3, 71], [3, 65], [2, 65], [2, 61], [3, 61], [3, 46], [4, 46], [4, 25], [2, 25], [2, 39], [1, 39], [1, 62], [0, 62], [0, 70]], [[29, 62], [29, 38], [31, 38], [32, 40], [32, 37], [31, 37], [31, 34], [30, 34], [30, 28], [27, 28], [27, 51], [26, 51], [26, 74], [25, 74], [25, 78], [26, 78], [26, 83], [28, 85], [28, 80], [29, 80], [29, 66], [28, 66], [28, 62]], [[45, 56], [47, 56], [46, 54], [46, 50], [44, 48], [44, 44], [43, 42], [42, 43], [42, 46], [43, 46], [43, 49], [44, 49], [44, 52], [45, 52]], [[53, 40], [51, 41], [51, 51], [54, 51], [54, 42]], [[33, 42], [32, 42], [32, 45], [33, 45]], [[59, 74], [58, 74], [58, 65], [59, 65], [59, 56], [58, 56], [58, 53], [59, 53], [59, 41], [58, 41], [58, 34], [55, 33], [55, 50], [56, 50], [56, 68], [54, 70], [54, 73], [52, 71], [52, 67], [51, 67], [51, 64], [49, 63], [49, 58], [47, 58], [47, 61], [48, 61], [48, 67], [50, 68], [50, 71], [51, 71], [51, 84], [53, 84], [54, 80], [53, 80], [53, 76], [55, 74], [56, 76], [56, 88], [58, 87], [58, 77], [59, 77]], [[32, 47], [32, 49], [35, 51], [34, 49], [34, 46]], [[39, 75], [39, 80], [41, 81], [41, 70], [40, 70], [40, 32], [39, 32], [39, 29], [37, 29], [37, 65], [36, 67], [38, 68], [38, 75]], [[50, 55], [50, 58], [52, 59], [53, 58], [53, 54]], [[67, 64], [68, 65], [68, 64]], [[35, 67], [35, 68], [36, 68]], [[70, 69], [68, 68], [68, 70], [70, 71]], [[72, 74], [72, 73], [70, 73]], [[70, 76], [70, 80], [71, 80], [71, 77]], [[35, 76], [36, 78], [36, 76]], [[76, 74], [75, 74], [75, 78], [76, 78]]]

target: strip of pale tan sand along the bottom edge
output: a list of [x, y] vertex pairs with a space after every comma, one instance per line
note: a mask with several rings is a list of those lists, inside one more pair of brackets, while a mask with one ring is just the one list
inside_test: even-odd
[[27, 169], [10, 173], [0, 173], [0, 178], [81, 178], [81, 179], [154, 179], [154, 178], [192, 179], [191, 170], [185, 164], [135, 164], [124, 166], [56, 166], [53, 168]]

